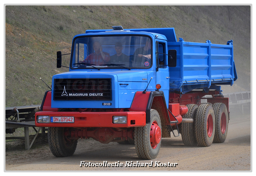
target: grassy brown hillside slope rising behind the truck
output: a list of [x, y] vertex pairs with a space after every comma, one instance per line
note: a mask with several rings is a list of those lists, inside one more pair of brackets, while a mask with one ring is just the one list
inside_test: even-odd
[[[188, 42], [234, 41], [238, 80], [224, 93], [250, 91], [250, 6], [6, 6], [6, 107], [41, 104], [56, 68], [87, 29], [167, 28]], [[62, 65], [69, 65], [68, 56]]]

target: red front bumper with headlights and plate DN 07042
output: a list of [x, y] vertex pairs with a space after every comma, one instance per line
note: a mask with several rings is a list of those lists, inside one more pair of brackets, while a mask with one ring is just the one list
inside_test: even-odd
[[[50, 117], [74, 117], [74, 123], [38, 123], [38, 115]], [[113, 116], [126, 116], [126, 124], [114, 124]], [[145, 112], [53, 112], [40, 111], [35, 114], [37, 127], [144, 127], [146, 125]]]

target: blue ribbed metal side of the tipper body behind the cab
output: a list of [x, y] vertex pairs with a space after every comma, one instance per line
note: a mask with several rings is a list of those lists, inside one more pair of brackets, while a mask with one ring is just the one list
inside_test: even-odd
[[233, 57], [233, 41], [227, 45], [168, 42], [177, 50], [177, 66], [170, 67], [170, 90], [186, 93], [192, 89], [214, 85], [233, 85], [237, 79]]

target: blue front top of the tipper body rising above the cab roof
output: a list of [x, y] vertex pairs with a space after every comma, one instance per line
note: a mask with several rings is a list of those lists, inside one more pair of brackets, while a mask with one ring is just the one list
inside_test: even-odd
[[[86, 34], [88, 33], [98, 33], [98, 32], [112, 32], [114, 30], [86, 30]], [[176, 34], [174, 28], [144, 28], [144, 29], [124, 29], [125, 31], [132, 31], [132, 32], [150, 32], [156, 34], [162, 34], [166, 36], [168, 42], [177, 42]], [[119, 31], [120, 32], [120, 31]]]

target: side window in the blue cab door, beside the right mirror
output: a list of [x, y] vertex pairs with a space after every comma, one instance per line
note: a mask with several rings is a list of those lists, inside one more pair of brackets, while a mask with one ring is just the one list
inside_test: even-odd
[[166, 66], [165, 43], [156, 42], [156, 64], [159, 68]]

